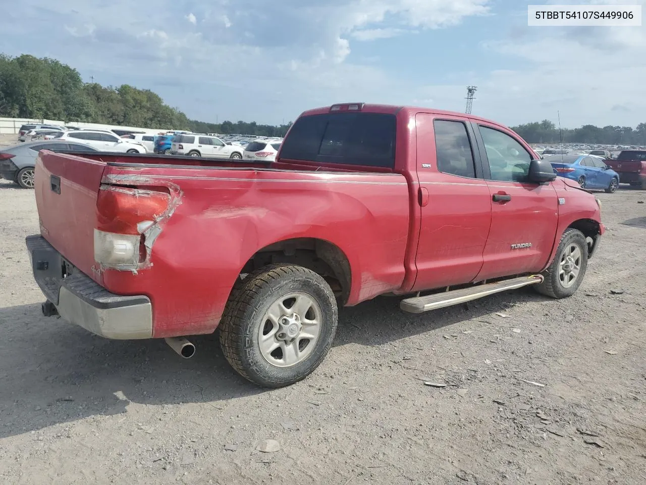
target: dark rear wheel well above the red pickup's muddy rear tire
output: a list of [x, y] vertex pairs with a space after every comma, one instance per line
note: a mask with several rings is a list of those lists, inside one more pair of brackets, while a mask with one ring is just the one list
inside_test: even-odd
[[245, 263], [241, 274], [273, 263], [303, 266], [321, 275], [342, 303], [348, 301], [351, 273], [348, 258], [335, 244], [322, 239], [302, 237], [275, 242], [256, 252]]

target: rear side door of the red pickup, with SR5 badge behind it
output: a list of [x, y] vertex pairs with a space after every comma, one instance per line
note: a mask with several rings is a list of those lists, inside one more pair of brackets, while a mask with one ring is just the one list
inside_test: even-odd
[[480, 272], [491, 198], [471, 125], [458, 116], [418, 113], [421, 228], [413, 291], [468, 283]]

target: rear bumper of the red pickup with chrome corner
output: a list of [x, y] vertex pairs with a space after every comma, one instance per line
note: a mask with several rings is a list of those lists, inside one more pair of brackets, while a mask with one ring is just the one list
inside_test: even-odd
[[41, 235], [26, 237], [34, 279], [58, 314], [101, 337], [152, 338], [152, 305], [147, 296], [110, 293], [74, 268]]

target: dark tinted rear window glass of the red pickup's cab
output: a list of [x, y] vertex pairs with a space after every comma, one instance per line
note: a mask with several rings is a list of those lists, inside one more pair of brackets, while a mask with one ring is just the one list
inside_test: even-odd
[[282, 158], [309, 162], [395, 166], [395, 115], [326, 113], [298, 118], [282, 142]]

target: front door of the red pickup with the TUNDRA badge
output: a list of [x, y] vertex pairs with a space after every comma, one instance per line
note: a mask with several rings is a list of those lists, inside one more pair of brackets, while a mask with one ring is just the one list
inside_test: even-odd
[[552, 184], [528, 182], [532, 155], [500, 127], [473, 122], [492, 201], [491, 230], [477, 279], [538, 272], [552, 252], [558, 199]]

